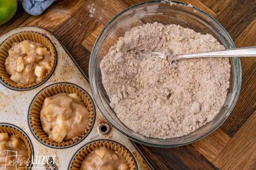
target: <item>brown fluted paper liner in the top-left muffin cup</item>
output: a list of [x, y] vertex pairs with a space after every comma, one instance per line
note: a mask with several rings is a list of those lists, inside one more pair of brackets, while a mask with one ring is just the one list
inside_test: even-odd
[[48, 38], [46, 38], [42, 34], [39, 34], [37, 32], [19, 32], [17, 34], [10, 36], [9, 38], [7, 38], [0, 45], [0, 77], [1, 77], [2, 81], [4, 81], [4, 83], [6, 83], [7, 85], [10, 85], [11, 87], [15, 87], [15, 88], [19, 88], [19, 89], [25, 89], [25, 88], [37, 85], [38, 83], [44, 81], [44, 79], [52, 71], [52, 69], [50, 71], [48, 71], [46, 76], [43, 77], [42, 81], [40, 81], [38, 83], [30, 84], [30, 85], [20, 85], [10, 79], [10, 75], [8, 75], [8, 73], [6, 72], [5, 66], [4, 66], [5, 60], [8, 57], [8, 50], [12, 47], [12, 44], [14, 42], [22, 42], [24, 40], [31, 40], [33, 42], [38, 42], [38, 43], [44, 45], [44, 47], [46, 47], [47, 50], [50, 51], [50, 54], [52, 55], [52, 61], [51, 61], [52, 69], [54, 66], [54, 61], [56, 60], [54, 46], [52, 45], [50, 40], [48, 40]]

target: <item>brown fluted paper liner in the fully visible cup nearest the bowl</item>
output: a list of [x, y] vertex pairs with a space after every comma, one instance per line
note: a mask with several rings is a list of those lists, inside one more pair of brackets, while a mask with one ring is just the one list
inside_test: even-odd
[[[42, 129], [42, 125], [41, 125], [41, 121], [40, 121], [40, 112], [42, 110], [42, 105], [44, 103], [44, 99], [46, 97], [50, 97], [50, 96], [56, 95], [58, 93], [76, 93], [80, 97], [80, 99], [82, 100], [82, 102], [87, 107], [87, 109], [90, 113], [90, 116], [89, 116], [90, 119], [89, 119], [88, 126], [86, 127], [86, 129], [84, 129], [84, 132], [80, 136], [77, 136], [68, 141], [63, 141], [63, 142], [59, 142], [59, 143], [55, 142], [53, 140], [50, 140], [48, 138], [48, 134], [46, 134], [44, 132], [44, 130]], [[59, 84], [55, 84], [55, 85], [47, 87], [46, 89], [41, 91], [37, 95], [37, 97], [35, 97], [35, 99], [31, 103], [29, 114], [30, 114], [29, 123], [30, 123], [31, 129], [32, 129], [32, 132], [42, 142], [44, 142], [48, 145], [51, 145], [51, 146], [63, 147], [63, 146], [67, 146], [67, 145], [73, 144], [75, 142], [78, 142], [85, 136], [85, 134], [88, 132], [88, 130], [90, 130], [90, 128], [92, 128], [94, 110], [93, 110], [93, 106], [92, 106], [92, 102], [90, 101], [90, 98], [86, 95], [86, 93], [84, 93], [84, 91], [82, 91], [82, 89], [79, 89], [78, 87], [71, 85], [71, 84], [59, 83]]]

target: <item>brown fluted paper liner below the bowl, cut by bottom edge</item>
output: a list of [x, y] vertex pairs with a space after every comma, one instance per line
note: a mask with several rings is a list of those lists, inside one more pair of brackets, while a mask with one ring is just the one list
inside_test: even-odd
[[79, 170], [80, 166], [82, 164], [82, 161], [84, 158], [90, 154], [95, 148], [100, 148], [100, 147], [106, 147], [110, 150], [113, 150], [117, 152], [119, 155], [123, 156], [126, 162], [129, 165], [130, 170], [136, 170], [136, 166], [134, 163], [134, 160], [132, 158], [132, 155], [126, 150], [126, 148], [120, 146], [120, 144], [108, 140], [99, 140], [96, 142], [92, 142], [84, 146], [82, 149], [78, 151], [78, 153], [74, 156], [71, 165], [70, 165], [70, 170]]

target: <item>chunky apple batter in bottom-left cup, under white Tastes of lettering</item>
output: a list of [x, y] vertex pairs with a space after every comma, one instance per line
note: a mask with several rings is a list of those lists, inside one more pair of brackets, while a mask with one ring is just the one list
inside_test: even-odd
[[[16, 159], [17, 163], [12, 164]], [[0, 170], [16, 170], [16, 166], [17, 169], [24, 168], [27, 166], [27, 161], [28, 149], [26, 144], [16, 135], [8, 136], [8, 133], [0, 133]]]

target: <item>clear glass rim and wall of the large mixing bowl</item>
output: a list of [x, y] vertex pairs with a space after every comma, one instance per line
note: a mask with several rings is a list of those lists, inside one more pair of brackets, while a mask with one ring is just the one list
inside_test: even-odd
[[[191, 143], [194, 143], [206, 136], [208, 136], [209, 134], [211, 134], [212, 132], [214, 132], [217, 128], [219, 128], [225, 121], [226, 119], [229, 117], [229, 115], [232, 113], [233, 109], [234, 109], [234, 106], [236, 105], [236, 102], [238, 100], [238, 96], [239, 96], [239, 93], [240, 93], [240, 89], [241, 89], [241, 85], [242, 85], [242, 68], [241, 68], [241, 63], [240, 63], [240, 58], [239, 57], [232, 57], [232, 63], [234, 63], [234, 69], [236, 69], [237, 72], [234, 71], [234, 91], [232, 93], [232, 98], [233, 100], [231, 99], [231, 105], [230, 107], [228, 108], [227, 112], [226, 112], [226, 116], [216, 125], [214, 126], [212, 129], [208, 130], [207, 132], [205, 132], [204, 134], [202, 134], [200, 137], [197, 137], [193, 140], [190, 140], [188, 142], [176, 142], [176, 143], [172, 143], [172, 144], [166, 144], [166, 143], [155, 143], [155, 142], [151, 142], [151, 141], [148, 141], [148, 140], [145, 140], [145, 139], [141, 139], [141, 138], [137, 138], [131, 134], [127, 134], [126, 132], [123, 132], [115, 123], [114, 121], [112, 120], [109, 120], [107, 118], [107, 116], [105, 115], [105, 113], [102, 111], [102, 108], [101, 108], [101, 101], [100, 99], [98, 99], [98, 96], [97, 96], [97, 92], [96, 92], [96, 89], [94, 89], [96, 87], [96, 81], [94, 78], [94, 76], [92, 75], [92, 71], [91, 70], [94, 70], [94, 65], [93, 65], [93, 61], [95, 60], [93, 58], [93, 55], [95, 53], [95, 49], [96, 49], [96, 46], [98, 45], [98, 42], [100, 40], [100, 38], [102, 37], [102, 34], [105, 32], [105, 30], [108, 28], [108, 26], [114, 22], [114, 20], [116, 20], [116, 18], [118, 18], [120, 15], [124, 14], [125, 12], [129, 11], [129, 10], [132, 10], [133, 8], [136, 8], [136, 7], [139, 7], [139, 6], [142, 6], [142, 5], [146, 5], [146, 4], [153, 4], [153, 3], [174, 3], [175, 5], [182, 5], [182, 6], [188, 6], [188, 4], [185, 4], [185, 3], [182, 3], [182, 2], [177, 2], [177, 1], [166, 1], [166, 0], [152, 0], [152, 1], [146, 1], [146, 2], [142, 2], [142, 3], [139, 3], [139, 4], [135, 4], [133, 6], [130, 6], [129, 8], [126, 8], [125, 10], [123, 10], [122, 12], [120, 12], [119, 14], [117, 14], [114, 18], [112, 18], [107, 24], [106, 26], [104, 26], [104, 28], [102, 29], [102, 31], [100, 32], [100, 34], [98, 35], [94, 45], [93, 45], [93, 48], [92, 48], [92, 51], [91, 51], [91, 55], [90, 55], [90, 61], [89, 61], [89, 82], [90, 82], [90, 87], [91, 87], [91, 91], [92, 91], [92, 96], [94, 97], [94, 100], [96, 101], [96, 105], [98, 106], [100, 112], [102, 113], [102, 115], [108, 120], [108, 122], [113, 126], [115, 127], [119, 132], [121, 132], [122, 134], [124, 134], [125, 136], [127, 136], [128, 138], [130, 138], [131, 140], [134, 140], [136, 142], [139, 142], [141, 144], [145, 144], [147, 146], [154, 146], [154, 147], [160, 147], [160, 148], [172, 148], [172, 147], [176, 147], [176, 146], [184, 146], [184, 145], [187, 145], [187, 144], [191, 144]], [[224, 27], [217, 21], [215, 20], [212, 16], [210, 16], [209, 14], [207, 14], [206, 12], [203, 12], [202, 10], [192, 6], [190, 8], [193, 8], [194, 10], [196, 10], [197, 12], [200, 12], [202, 13], [203, 15], [205, 15], [207, 18], [209, 18], [212, 22], [214, 22], [214, 24], [216, 24], [216, 26], [218, 26], [218, 28], [220, 30], [222, 30], [224, 36], [226, 37], [226, 39], [228, 40], [228, 42], [230, 43], [230, 47], [231, 48], [235, 48], [235, 44], [232, 40], [232, 38], [230, 37], [230, 35], [228, 34], [228, 32], [224, 29]], [[97, 51], [96, 51], [97, 52]], [[105, 109], [106, 110], [106, 109]], [[147, 136], [145, 136], [147, 137]], [[182, 137], [182, 136], [180, 136]], [[147, 137], [147, 138], [150, 138], [150, 137]], [[154, 138], [154, 139], [157, 139], [157, 138]], [[163, 139], [164, 140], [164, 139]]]

